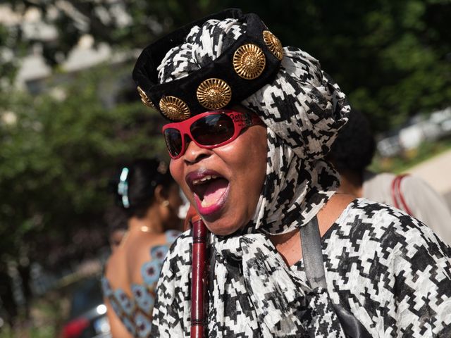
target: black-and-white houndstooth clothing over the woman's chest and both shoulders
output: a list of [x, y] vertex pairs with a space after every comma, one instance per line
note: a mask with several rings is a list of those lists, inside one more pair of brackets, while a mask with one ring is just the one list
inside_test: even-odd
[[[331, 302], [350, 311], [371, 337], [451, 337], [451, 249], [402, 211], [366, 199], [347, 206], [321, 239], [327, 292], [309, 288], [302, 260], [285, 268], [273, 246], [255, 248], [257, 236], [263, 235], [230, 239], [240, 242], [243, 256], [257, 253], [246, 264], [239, 253], [214, 253], [209, 337], [344, 337]], [[156, 337], [190, 336], [191, 248], [185, 232], [166, 257]], [[276, 278], [261, 280], [261, 270], [273, 264], [280, 265]], [[268, 291], [273, 282], [276, 294]], [[300, 325], [292, 326], [287, 313]]]

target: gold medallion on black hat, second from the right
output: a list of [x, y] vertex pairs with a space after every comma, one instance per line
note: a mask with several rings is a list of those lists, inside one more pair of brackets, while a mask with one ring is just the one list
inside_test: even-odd
[[233, 54], [233, 68], [246, 80], [256, 79], [263, 73], [266, 58], [263, 51], [255, 44], [243, 44]]

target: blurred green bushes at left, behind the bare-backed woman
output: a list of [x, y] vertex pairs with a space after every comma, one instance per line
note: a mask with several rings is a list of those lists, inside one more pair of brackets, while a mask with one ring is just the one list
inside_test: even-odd
[[[64, 259], [60, 253], [93, 254], [106, 244], [102, 214], [118, 162], [165, 154], [159, 113], [139, 100], [102, 103], [119, 73], [106, 66], [47, 94], [0, 94], [1, 260], [52, 265]], [[97, 237], [77, 241], [82, 229], [98, 230]]]

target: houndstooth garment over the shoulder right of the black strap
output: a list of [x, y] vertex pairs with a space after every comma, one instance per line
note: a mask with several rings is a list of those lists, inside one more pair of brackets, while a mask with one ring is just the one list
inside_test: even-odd
[[451, 248], [426, 225], [357, 199], [322, 242], [331, 300], [372, 337], [451, 337]]

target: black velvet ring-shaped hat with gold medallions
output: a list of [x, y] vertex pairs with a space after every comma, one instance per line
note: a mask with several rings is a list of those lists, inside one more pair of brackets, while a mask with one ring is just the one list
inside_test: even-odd
[[[245, 23], [244, 34], [199, 70], [159, 84], [157, 68], [170, 49], [183, 44], [194, 26], [226, 18]], [[282, 44], [261, 19], [233, 8], [190, 23], [147, 46], [137, 59], [133, 80], [146, 106], [158, 109], [168, 120], [180, 121], [240, 103], [271, 82], [282, 58]]]

